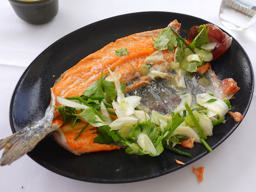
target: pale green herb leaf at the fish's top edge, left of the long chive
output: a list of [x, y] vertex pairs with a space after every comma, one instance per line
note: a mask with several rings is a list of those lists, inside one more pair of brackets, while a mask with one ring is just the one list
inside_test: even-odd
[[176, 37], [170, 30], [170, 26], [163, 29], [156, 39], [152, 39], [154, 47], [159, 51], [167, 49], [168, 52], [173, 52], [174, 47], [177, 46]]

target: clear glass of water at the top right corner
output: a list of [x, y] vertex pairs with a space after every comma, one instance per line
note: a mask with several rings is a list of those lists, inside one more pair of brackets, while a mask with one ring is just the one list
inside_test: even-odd
[[219, 17], [228, 29], [244, 30], [256, 22], [256, 0], [222, 0]]

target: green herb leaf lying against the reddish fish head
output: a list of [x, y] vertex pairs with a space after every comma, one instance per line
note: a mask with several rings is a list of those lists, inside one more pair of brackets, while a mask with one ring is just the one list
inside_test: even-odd
[[192, 48], [201, 48], [201, 45], [210, 43], [208, 37], [209, 30], [209, 27], [206, 29], [205, 25], [200, 25], [198, 29], [199, 34], [195, 37], [189, 46]]

